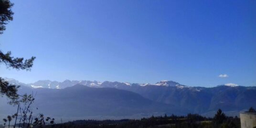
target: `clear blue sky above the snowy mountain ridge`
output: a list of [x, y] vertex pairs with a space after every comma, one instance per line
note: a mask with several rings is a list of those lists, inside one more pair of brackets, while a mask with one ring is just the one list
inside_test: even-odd
[[11, 0], [0, 49], [35, 56], [0, 76], [256, 86], [256, 0]]

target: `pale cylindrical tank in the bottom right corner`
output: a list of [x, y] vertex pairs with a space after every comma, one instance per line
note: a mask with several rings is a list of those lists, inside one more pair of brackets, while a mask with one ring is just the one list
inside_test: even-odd
[[241, 128], [256, 128], [255, 112], [241, 112], [240, 120], [241, 120]]

